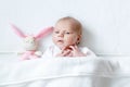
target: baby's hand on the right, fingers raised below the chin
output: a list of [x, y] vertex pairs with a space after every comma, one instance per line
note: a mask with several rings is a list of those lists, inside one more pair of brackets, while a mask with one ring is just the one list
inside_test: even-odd
[[86, 57], [86, 54], [82, 53], [76, 45], [69, 46], [69, 48], [72, 49], [70, 53], [73, 57]]

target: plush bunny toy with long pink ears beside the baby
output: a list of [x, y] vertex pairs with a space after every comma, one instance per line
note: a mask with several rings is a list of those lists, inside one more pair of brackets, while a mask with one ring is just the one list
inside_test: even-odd
[[18, 35], [21, 38], [23, 38], [24, 49], [25, 51], [22, 52], [22, 60], [30, 60], [30, 59], [37, 59], [41, 57], [42, 52], [38, 51], [38, 41], [44, 37], [47, 34], [51, 33], [53, 30], [53, 27], [43, 28], [38, 35], [25, 35], [18, 27], [11, 24], [13, 27], [13, 30], [16, 35]]

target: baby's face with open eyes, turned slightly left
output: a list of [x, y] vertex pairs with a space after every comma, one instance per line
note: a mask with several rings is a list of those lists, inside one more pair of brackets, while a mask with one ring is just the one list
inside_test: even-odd
[[54, 27], [52, 37], [53, 42], [61, 49], [76, 45], [80, 38], [69, 22], [58, 22]]

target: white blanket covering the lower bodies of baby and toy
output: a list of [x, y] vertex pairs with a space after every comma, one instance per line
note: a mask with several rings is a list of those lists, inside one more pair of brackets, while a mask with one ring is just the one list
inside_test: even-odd
[[0, 87], [130, 87], [130, 58], [0, 61]]

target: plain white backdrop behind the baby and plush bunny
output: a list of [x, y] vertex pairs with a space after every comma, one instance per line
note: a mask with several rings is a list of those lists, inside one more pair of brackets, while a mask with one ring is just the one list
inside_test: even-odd
[[[84, 27], [81, 46], [96, 54], [130, 54], [130, 0], [0, 0], [0, 51], [21, 47], [10, 23], [37, 34], [67, 15]], [[42, 41], [43, 48], [52, 42], [49, 36]]]

